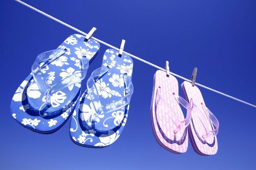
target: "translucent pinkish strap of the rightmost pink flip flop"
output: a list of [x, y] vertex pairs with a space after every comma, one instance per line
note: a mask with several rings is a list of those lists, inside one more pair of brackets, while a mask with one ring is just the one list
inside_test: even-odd
[[[194, 112], [196, 112], [196, 115], [198, 116], [198, 118], [200, 119], [200, 122], [203, 124], [204, 129], [206, 131], [206, 134], [204, 134], [202, 137], [208, 138], [211, 136], [216, 136], [218, 134], [218, 128], [219, 128], [219, 122], [218, 119], [214, 116], [214, 114], [204, 105], [201, 103], [201, 106], [204, 110], [204, 113], [202, 113], [198, 107], [195, 105], [195, 103], [193, 102], [193, 100], [191, 99], [191, 104], [192, 104], [192, 110]], [[199, 116], [199, 115], [201, 116]], [[206, 117], [204, 116], [206, 115]], [[204, 119], [202, 120], [201, 118], [204, 117]], [[209, 129], [209, 124], [211, 125], [211, 129]], [[212, 124], [215, 126], [213, 127]]]

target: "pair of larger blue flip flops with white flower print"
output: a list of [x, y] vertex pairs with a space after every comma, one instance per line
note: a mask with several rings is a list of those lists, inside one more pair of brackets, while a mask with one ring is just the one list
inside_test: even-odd
[[118, 51], [105, 51], [102, 67], [81, 81], [99, 51], [99, 42], [73, 34], [57, 49], [39, 54], [32, 73], [15, 92], [12, 116], [24, 127], [53, 133], [72, 115], [70, 137], [76, 144], [105, 147], [120, 136], [133, 94], [133, 61]]

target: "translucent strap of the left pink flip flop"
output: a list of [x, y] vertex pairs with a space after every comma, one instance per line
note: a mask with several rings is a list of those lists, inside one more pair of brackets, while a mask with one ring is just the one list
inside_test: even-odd
[[157, 94], [156, 94], [156, 99], [155, 99], [155, 107], [156, 108], [160, 107], [162, 104], [167, 105], [167, 107], [173, 113], [172, 115], [174, 115], [174, 117], [173, 117], [173, 116], [171, 116], [170, 113], [167, 113], [167, 115], [171, 118], [172, 122], [177, 127], [174, 130], [174, 133], [176, 134], [179, 130], [185, 129], [189, 125], [189, 123], [191, 122], [191, 119], [192, 119], [192, 116], [191, 116], [192, 108], [189, 105], [189, 103], [185, 99], [180, 97], [179, 95], [173, 93], [173, 97], [175, 98], [175, 100], [177, 101], [178, 104], [182, 105], [187, 110], [186, 118], [184, 120], [180, 121], [180, 119], [177, 117], [177, 114], [175, 113], [175, 111], [173, 111], [172, 108], [168, 105], [168, 103], [163, 99], [162, 91], [161, 91], [160, 87], [157, 88]]

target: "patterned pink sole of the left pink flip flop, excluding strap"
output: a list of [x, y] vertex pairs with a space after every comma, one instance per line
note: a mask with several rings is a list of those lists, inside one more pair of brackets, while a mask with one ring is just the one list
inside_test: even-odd
[[[161, 98], [163, 98], [168, 106], [160, 105], [157, 108], [155, 105], [157, 88], [161, 88]], [[178, 95], [178, 82], [175, 77], [166, 76], [166, 72], [158, 70], [154, 75], [153, 94], [151, 99], [151, 125], [155, 139], [166, 150], [172, 153], [185, 153], [188, 148], [187, 129], [179, 130], [174, 134], [176, 125], [169, 116], [174, 118], [176, 114], [180, 120], [184, 119], [184, 115], [180, 105], [176, 101], [173, 93]], [[169, 114], [169, 116], [168, 116]]]

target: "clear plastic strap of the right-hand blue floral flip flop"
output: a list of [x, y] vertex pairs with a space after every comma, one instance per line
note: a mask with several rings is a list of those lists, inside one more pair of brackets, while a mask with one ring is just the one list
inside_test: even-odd
[[[96, 111], [96, 115], [93, 118], [93, 122], [98, 118], [99, 115], [106, 114], [109, 112], [116, 111], [122, 107], [125, 107], [128, 105], [128, 103], [131, 100], [131, 96], [133, 94], [134, 88], [133, 84], [131, 82], [131, 78], [127, 74], [123, 74], [123, 79], [124, 79], [124, 86], [125, 86], [125, 96], [114, 101], [111, 103], [108, 103], [106, 105], [102, 105], [100, 99], [99, 99], [99, 93], [98, 89], [96, 87], [95, 82], [99, 80], [102, 76], [104, 76], [108, 72], [109, 68], [108, 67], [101, 67], [97, 68], [94, 70], [89, 77], [87, 81], [87, 90], [90, 95], [90, 98], [93, 102], [93, 106]], [[97, 77], [96, 80], [94, 78]]]

